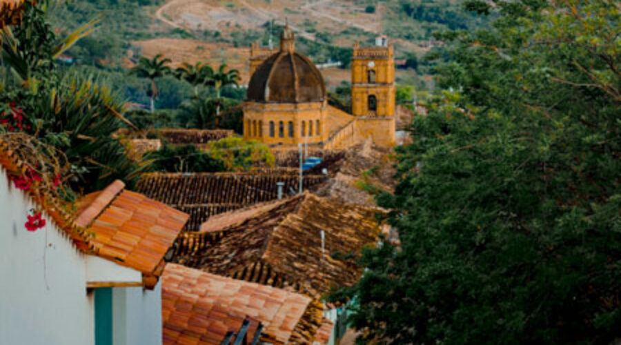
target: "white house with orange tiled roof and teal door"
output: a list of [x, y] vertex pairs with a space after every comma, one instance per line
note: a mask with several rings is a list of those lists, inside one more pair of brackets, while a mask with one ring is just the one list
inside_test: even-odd
[[121, 181], [74, 209], [14, 186], [26, 159], [0, 140], [0, 343], [161, 344], [159, 277], [188, 215]]

